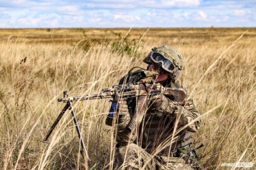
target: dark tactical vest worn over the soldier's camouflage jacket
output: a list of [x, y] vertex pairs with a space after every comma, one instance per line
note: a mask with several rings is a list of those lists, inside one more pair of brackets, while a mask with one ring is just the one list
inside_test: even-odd
[[[139, 68], [139, 67], [134, 67]], [[126, 77], [123, 77], [119, 84], [124, 83], [133, 83], [137, 82], [140, 79], [143, 79], [140, 72], [142, 72], [142, 68], [139, 68], [136, 72], [132, 72], [134, 69], [132, 68]], [[181, 87], [178, 82], [170, 82], [169, 87]], [[136, 98], [128, 98], [127, 105], [129, 108], [130, 115], [134, 115], [134, 111], [136, 108]], [[154, 152], [156, 147], [159, 147], [162, 142], [167, 143], [171, 141], [171, 137], [174, 131], [174, 123], [176, 118], [168, 118], [161, 111], [157, 111], [155, 108], [150, 108], [146, 111], [146, 115], [144, 116], [144, 121], [141, 123], [139, 128], [139, 135], [137, 140], [137, 145], [141, 145], [142, 148], [146, 149], [147, 152]], [[159, 155], [167, 156], [169, 155], [169, 151], [174, 152], [179, 147], [184, 147], [192, 142], [191, 133], [183, 130], [178, 134], [178, 139], [173, 141], [173, 145], [170, 147], [166, 147], [165, 149], [161, 149]], [[169, 145], [170, 146], [170, 145]]]

